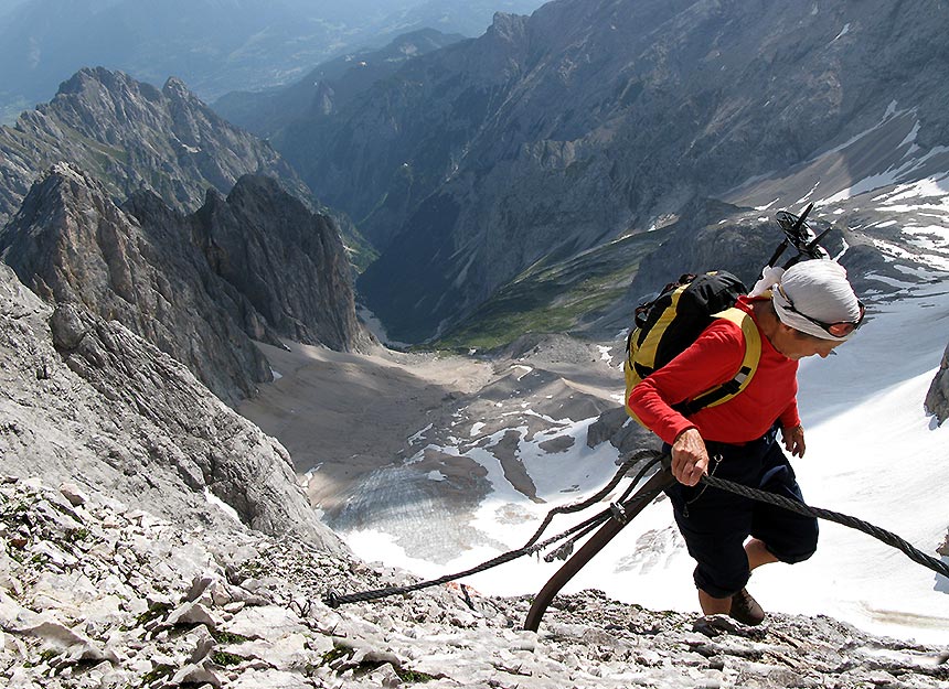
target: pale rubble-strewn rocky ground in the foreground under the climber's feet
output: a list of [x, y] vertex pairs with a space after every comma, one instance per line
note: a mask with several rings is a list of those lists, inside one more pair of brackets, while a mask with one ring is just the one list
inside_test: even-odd
[[338, 610], [328, 589], [409, 583], [295, 539], [183, 530], [97, 493], [0, 483], [0, 677], [25, 687], [936, 688], [945, 650], [828, 617], [727, 618], [429, 589]]

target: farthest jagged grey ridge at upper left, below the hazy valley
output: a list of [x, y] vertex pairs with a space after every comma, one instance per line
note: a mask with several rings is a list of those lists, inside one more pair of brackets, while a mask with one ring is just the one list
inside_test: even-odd
[[93, 174], [116, 200], [145, 189], [180, 211], [201, 205], [209, 186], [230, 192], [247, 173], [310, 197], [273, 148], [221, 119], [181, 80], [158, 89], [100, 67], [79, 71], [52, 101], [0, 128], [0, 224], [60, 161]]

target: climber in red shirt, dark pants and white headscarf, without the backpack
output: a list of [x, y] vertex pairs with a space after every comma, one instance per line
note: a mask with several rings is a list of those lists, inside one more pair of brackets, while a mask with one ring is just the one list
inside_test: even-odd
[[702, 612], [750, 625], [765, 617], [746, 589], [751, 570], [811, 557], [818, 542], [817, 519], [699, 485], [700, 478], [708, 474], [803, 502], [777, 440], [780, 431], [785, 449], [803, 456], [798, 362], [830, 355], [854, 334], [865, 312], [846, 271], [832, 260], [806, 260], [770, 276], [737, 304], [751, 315], [761, 335], [760, 363], [747, 388], [687, 418], [675, 409], [729, 380], [740, 367], [742, 329], [716, 319], [681, 355], [638, 384], [628, 399], [630, 409], [672, 454], [678, 483], [667, 494], [689, 553], [697, 562], [694, 581]]

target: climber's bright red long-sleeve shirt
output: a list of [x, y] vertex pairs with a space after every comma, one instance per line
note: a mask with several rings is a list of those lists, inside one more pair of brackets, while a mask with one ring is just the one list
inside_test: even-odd
[[[751, 301], [742, 297], [736, 305], [754, 319]], [[783, 428], [798, 426], [798, 363], [775, 349], [764, 333], [761, 360], [739, 395], [716, 407], [700, 409], [687, 419], [672, 409], [672, 405], [734, 378], [744, 354], [742, 329], [732, 321], [716, 319], [685, 352], [632, 389], [630, 408], [670, 444], [690, 428], [699, 429], [705, 440], [745, 443], [764, 435], [778, 419]]]

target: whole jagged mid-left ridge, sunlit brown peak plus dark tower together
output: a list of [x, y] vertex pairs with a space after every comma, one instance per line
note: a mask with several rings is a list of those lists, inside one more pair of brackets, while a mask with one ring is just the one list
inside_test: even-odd
[[193, 216], [147, 192], [126, 208], [58, 164], [0, 230], [0, 257], [44, 300], [121, 322], [227, 401], [271, 379], [252, 337], [355, 341], [335, 226], [277, 183], [247, 177], [228, 200], [211, 192]]

